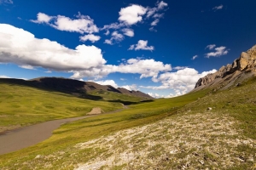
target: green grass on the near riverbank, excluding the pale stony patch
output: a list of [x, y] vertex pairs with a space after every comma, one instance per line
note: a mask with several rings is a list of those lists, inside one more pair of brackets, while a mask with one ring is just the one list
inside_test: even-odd
[[[232, 117], [236, 120], [236, 131], [241, 132], [240, 139], [256, 139], [255, 96], [256, 79], [252, 78], [242, 82], [241, 86], [235, 87], [234, 85], [234, 87], [224, 91], [215, 92], [213, 89], [207, 89], [172, 99], [135, 102], [124, 111], [90, 117], [62, 125], [54, 131], [51, 138], [44, 142], [0, 156], [0, 169], [35, 169], [36, 167], [38, 169], [73, 169], [79, 163], [96, 159], [96, 156], [108, 157], [109, 154], [107, 150], [100, 148], [80, 150], [75, 147], [76, 144], [118, 132], [125, 128], [157, 122], [166, 117], [177, 119], [179, 116], [196, 115], [200, 117], [199, 115], [207, 116], [209, 114], [216, 116], [214, 118]], [[208, 107], [211, 107], [212, 110], [207, 110]], [[201, 119], [197, 119], [197, 121], [201, 122]], [[190, 120], [184, 120], [185, 122], [190, 122]], [[154, 129], [152, 130], [154, 131]], [[225, 138], [228, 137], [225, 136]], [[236, 135], [230, 138], [236, 138]], [[214, 138], [211, 139], [214, 140]], [[209, 144], [211, 145], [211, 140]], [[139, 146], [139, 143], [133, 145]], [[143, 145], [140, 148], [143, 150]], [[230, 150], [228, 146], [225, 149]], [[255, 153], [255, 149], [246, 144], [238, 144], [236, 151], [248, 156]], [[36, 159], [36, 156], [44, 156], [44, 159]], [[61, 158], [58, 159], [58, 157]], [[211, 159], [214, 161], [214, 158]], [[235, 169], [247, 169], [248, 166], [252, 166], [251, 164], [241, 164]], [[48, 165], [50, 166], [48, 167]]]

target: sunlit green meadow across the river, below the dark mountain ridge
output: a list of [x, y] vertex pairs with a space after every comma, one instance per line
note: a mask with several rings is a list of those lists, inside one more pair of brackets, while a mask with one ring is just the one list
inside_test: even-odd
[[[116, 102], [77, 98], [26, 84], [0, 82], [0, 129], [11, 129], [38, 122], [73, 116], [84, 116], [93, 107], [114, 111], [122, 107]], [[0, 130], [1, 132], [1, 130]]]

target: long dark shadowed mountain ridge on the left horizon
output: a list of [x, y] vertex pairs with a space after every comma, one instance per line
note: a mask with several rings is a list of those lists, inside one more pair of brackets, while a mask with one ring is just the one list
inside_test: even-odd
[[[150, 95], [144, 94], [140, 91], [130, 91], [125, 88], [113, 88], [113, 86], [110, 85], [100, 85], [96, 82], [82, 82], [79, 80], [73, 80], [63, 77], [39, 77], [31, 80], [1, 78], [0, 82], [53, 90], [57, 92], [73, 94], [79, 97], [83, 97], [84, 94], [90, 94], [93, 91], [107, 91], [139, 97], [141, 98], [141, 100], [154, 99]], [[88, 95], [86, 95], [86, 97], [88, 97]]]

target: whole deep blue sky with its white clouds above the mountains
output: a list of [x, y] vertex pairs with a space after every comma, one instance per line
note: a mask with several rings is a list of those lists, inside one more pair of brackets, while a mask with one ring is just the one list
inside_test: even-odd
[[255, 45], [253, 0], [0, 0], [0, 77], [188, 93]]

